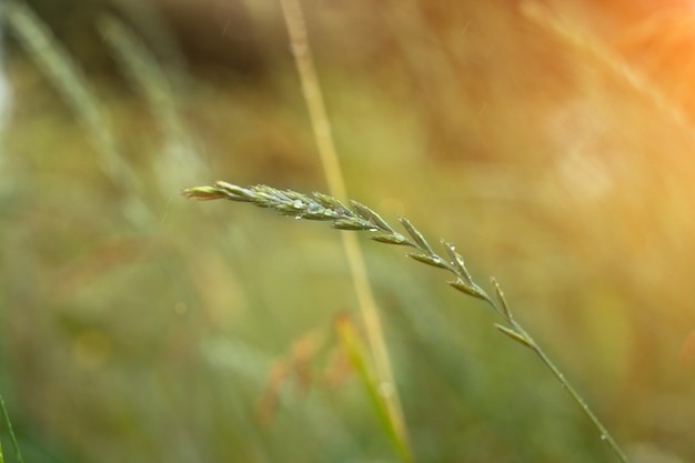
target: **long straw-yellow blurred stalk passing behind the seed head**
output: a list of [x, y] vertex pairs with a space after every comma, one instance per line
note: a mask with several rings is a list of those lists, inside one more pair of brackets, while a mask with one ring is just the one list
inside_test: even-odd
[[[311, 53], [304, 14], [302, 13], [302, 8], [298, 0], [280, 0], [280, 6], [290, 36], [290, 49], [302, 82], [302, 94], [304, 95], [306, 109], [309, 110], [309, 117], [311, 119], [311, 125], [329, 191], [333, 197], [344, 201], [348, 199], [348, 190], [343, 181], [340, 160], [331, 132], [331, 123], [326, 114], [323, 93], [321, 92], [319, 77], [316, 76], [316, 69]], [[385, 387], [381, 389], [382, 391], [390, 391], [389, 394], [382, 394], [381, 397], [384, 401], [392, 426], [395, 430], [396, 440], [400, 441], [396, 445], [399, 453], [404, 462], [410, 462], [412, 457], [407, 429], [393, 376], [393, 368], [384, 341], [379, 310], [366, 274], [366, 265], [364, 264], [362, 250], [356, 236], [353, 234], [344, 233], [342, 240], [362, 313], [370, 352], [373, 358], [376, 381], [379, 384], [385, 385]]]

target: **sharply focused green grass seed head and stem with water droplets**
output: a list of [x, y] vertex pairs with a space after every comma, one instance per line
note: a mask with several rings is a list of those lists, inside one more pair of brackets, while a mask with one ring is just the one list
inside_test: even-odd
[[494, 289], [494, 298], [492, 298], [473, 281], [473, 276], [466, 269], [463, 258], [456, 252], [453, 244], [444, 240], [441, 241], [446, 252], [445, 256], [442, 256], [433, 250], [423, 234], [407, 219], [399, 218], [401, 225], [406, 232], [403, 234], [395, 231], [376, 212], [364, 204], [350, 201], [350, 207], [348, 207], [333, 197], [318, 192], [304, 194], [291, 190], [278, 190], [266, 185], [242, 188], [218, 181], [210, 187], [189, 188], [182, 193], [190, 199], [200, 201], [228, 199], [249, 202], [295, 219], [326, 221], [331, 223], [332, 228], [338, 230], [369, 231], [375, 233], [367, 236], [369, 239], [380, 243], [410, 248], [411, 251], [406, 253], [409, 258], [449, 271], [454, 275], [454, 279], [446, 281], [446, 283], [464, 294], [485, 301], [505, 322], [503, 324], [495, 323], [495, 328], [513, 341], [531, 349], [541, 358], [541, 361], [553, 372], [557, 381], [567, 390], [572, 399], [596, 426], [601, 440], [608, 444], [621, 462], [627, 463], [625, 453], [608, 430], [592, 412], [584, 399], [560, 369], [551, 361], [545, 351], [514, 319], [497, 281], [494, 278], [491, 279]]

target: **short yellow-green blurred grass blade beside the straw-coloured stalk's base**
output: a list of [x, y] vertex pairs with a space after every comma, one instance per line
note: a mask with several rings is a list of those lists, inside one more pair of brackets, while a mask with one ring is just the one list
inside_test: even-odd
[[366, 390], [379, 421], [384, 426], [391, 443], [395, 447], [401, 461], [410, 463], [413, 461], [407, 442], [402, 437], [403, 434], [399, 432], [397, 423], [392, 420], [392, 414], [389, 412], [387, 400], [389, 391], [382, 390], [375, 379], [373, 366], [369, 361], [366, 349], [363, 345], [360, 336], [356, 333], [354, 323], [345, 314], [341, 314], [335, 319], [335, 332], [338, 340], [344, 349], [352, 368], [355, 370], [364, 389]]

